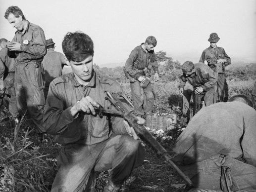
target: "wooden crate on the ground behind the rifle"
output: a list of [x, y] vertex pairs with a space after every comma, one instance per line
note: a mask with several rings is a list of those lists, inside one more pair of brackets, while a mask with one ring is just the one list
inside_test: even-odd
[[163, 131], [174, 129], [172, 123], [177, 122], [176, 114], [170, 115], [147, 115], [146, 117], [146, 126], [151, 129], [162, 129]]

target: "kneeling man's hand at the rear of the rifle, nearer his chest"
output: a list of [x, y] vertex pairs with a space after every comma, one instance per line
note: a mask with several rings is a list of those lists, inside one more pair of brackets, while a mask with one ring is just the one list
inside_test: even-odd
[[92, 113], [93, 115], [96, 114], [94, 110], [94, 106], [99, 108], [100, 105], [94, 101], [91, 97], [86, 96], [83, 97], [80, 101], [78, 101], [73, 107], [71, 107], [71, 115], [74, 117], [77, 115], [78, 112], [85, 112], [86, 114]]

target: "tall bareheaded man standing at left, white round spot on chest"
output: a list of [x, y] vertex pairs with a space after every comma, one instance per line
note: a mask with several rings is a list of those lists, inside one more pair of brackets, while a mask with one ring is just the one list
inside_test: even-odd
[[7, 48], [15, 52], [17, 59], [14, 84], [19, 113], [23, 115], [27, 111], [38, 133], [43, 133], [45, 97], [41, 62], [47, 52], [44, 31], [26, 20], [17, 6], [8, 7], [4, 18], [17, 29]]

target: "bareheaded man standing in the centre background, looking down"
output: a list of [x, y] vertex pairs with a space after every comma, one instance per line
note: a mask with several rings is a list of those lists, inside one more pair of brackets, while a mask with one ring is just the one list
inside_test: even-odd
[[135, 47], [125, 63], [124, 73], [130, 80], [135, 115], [149, 115], [153, 112], [154, 95], [150, 82], [150, 72], [154, 70], [154, 80], [159, 79], [158, 63], [154, 54], [156, 39], [149, 36], [145, 43]]

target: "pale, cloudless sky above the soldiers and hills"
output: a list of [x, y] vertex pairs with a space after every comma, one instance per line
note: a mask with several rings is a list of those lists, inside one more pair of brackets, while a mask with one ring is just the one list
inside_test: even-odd
[[124, 63], [148, 36], [157, 39], [155, 52], [197, 63], [213, 32], [231, 61], [256, 62], [256, 0], [0, 0], [0, 38], [8, 40], [16, 31], [3, 17], [11, 5], [53, 39], [55, 51], [67, 32], [88, 34], [100, 67]]

